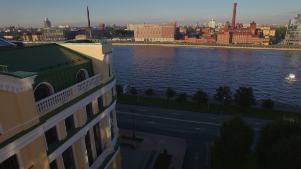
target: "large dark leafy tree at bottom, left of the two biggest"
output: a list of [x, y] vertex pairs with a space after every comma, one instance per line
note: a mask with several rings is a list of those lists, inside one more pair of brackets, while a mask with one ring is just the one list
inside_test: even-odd
[[214, 141], [211, 152], [221, 168], [241, 168], [253, 144], [255, 132], [239, 115], [223, 122], [220, 136]]

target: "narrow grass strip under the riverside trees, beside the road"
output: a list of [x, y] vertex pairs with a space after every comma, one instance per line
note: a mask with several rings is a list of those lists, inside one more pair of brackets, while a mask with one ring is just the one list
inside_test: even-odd
[[[135, 96], [135, 100], [133, 96], [127, 96], [127, 100], [124, 99], [124, 96], [118, 96], [117, 102], [119, 103], [134, 103], [134, 104], [141, 104], [141, 105], [152, 105], [152, 106], [161, 106], [161, 107], [169, 107], [169, 108], [178, 108], [178, 109], [187, 109], [187, 110], [196, 110], [196, 111], [208, 111], [212, 113], [220, 114], [221, 104], [208, 104], [200, 105], [196, 102], [186, 102], [182, 103], [181, 105], [179, 102], [175, 100], [169, 100], [168, 104], [166, 104], [167, 99], [159, 99], [159, 98], [150, 98], [148, 101], [147, 97], [139, 97], [139, 103], [137, 96]], [[269, 118], [269, 119], [282, 119], [284, 116], [287, 118], [297, 118], [301, 120], [301, 113], [297, 112], [289, 112], [289, 111], [280, 111], [280, 110], [266, 110], [264, 112], [263, 108], [254, 108], [254, 107], [245, 107], [244, 112], [242, 112], [241, 106], [235, 105], [224, 105], [223, 106], [223, 114], [228, 115], [235, 115], [241, 114], [242, 116], [249, 116], [249, 117], [259, 117], [259, 118]]]

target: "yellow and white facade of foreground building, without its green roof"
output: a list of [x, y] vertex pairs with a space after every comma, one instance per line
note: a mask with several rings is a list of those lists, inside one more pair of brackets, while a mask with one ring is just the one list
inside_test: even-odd
[[37, 75], [0, 73], [0, 168], [120, 169], [112, 44], [60, 45], [91, 58], [95, 76], [36, 102]]

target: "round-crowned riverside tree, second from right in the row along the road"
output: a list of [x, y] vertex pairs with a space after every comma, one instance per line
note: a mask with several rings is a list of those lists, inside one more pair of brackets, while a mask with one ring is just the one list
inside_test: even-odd
[[244, 107], [256, 105], [252, 87], [239, 87], [234, 94], [234, 101], [235, 104], [242, 106], [242, 112]]

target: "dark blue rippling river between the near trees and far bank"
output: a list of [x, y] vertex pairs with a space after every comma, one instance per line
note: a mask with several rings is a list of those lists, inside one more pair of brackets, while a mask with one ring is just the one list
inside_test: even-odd
[[117, 84], [131, 82], [139, 90], [193, 95], [203, 89], [210, 97], [219, 86], [232, 93], [252, 87], [257, 100], [301, 105], [301, 52], [281, 50], [113, 46]]

